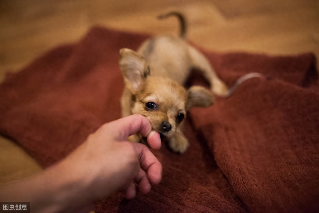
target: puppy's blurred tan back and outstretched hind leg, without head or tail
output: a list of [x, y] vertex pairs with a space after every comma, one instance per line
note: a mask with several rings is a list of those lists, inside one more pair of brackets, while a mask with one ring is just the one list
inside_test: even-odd
[[146, 40], [137, 52], [152, 70], [151, 76], [162, 76], [184, 85], [192, 68], [202, 71], [216, 95], [225, 96], [228, 89], [213, 71], [203, 54], [176, 36], [156, 36]]

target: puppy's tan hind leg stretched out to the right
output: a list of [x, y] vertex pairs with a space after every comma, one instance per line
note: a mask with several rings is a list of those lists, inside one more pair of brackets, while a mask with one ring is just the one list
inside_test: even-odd
[[191, 46], [189, 46], [189, 55], [191, 58], [192, 67], [197, 68], [202, 72], [204, 77], [211, 84], [211, 91], [215, 95], [227, 96], [228, 88], [226, 84], [216, 75], [207, 58], [197, 49]]

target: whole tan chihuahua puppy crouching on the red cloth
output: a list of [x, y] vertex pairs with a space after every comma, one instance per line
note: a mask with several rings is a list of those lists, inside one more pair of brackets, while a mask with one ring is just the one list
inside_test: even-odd
[[[159, 132], [169, 147], [183, 153], [189, 141], [183, 135], [183, 120], [191, 107], [209, 107], [214, 95], [229, 96], [230, 90], [219, 79], [207, 58], [183, 40], [186, 23], [182, 14], [170, 12], [159, 19], [176, 16], [180, 20], [180, 37], [164, 35], [146, 40], [137, 50], [121, 49], [119, 66], [125, 88], [121, 98], [122, 117], [141, 114], [147, 118], [152, 129]], [[192, 68], [197, 68], [211, 84], [211, 91], [182, 85]], [[237, 80], [236, 87], [241, 81]], [[132, 135], [130, 141], [141, 141], [140, 135]]]

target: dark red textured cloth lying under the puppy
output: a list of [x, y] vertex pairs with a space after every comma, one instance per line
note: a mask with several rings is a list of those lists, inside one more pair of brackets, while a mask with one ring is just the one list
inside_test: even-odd
[[[44, 168], [101, 124], [120, 118], [120, 48], [148, 36], [93, 28], [80, 42], [36, 59], [0, 85], [0, 133]], [[153, 153], [162, 182], [126, 201], [115, 194], [96, 212], [319, 211], [319, 88], [312, 54], [270, 57], [204, 51], [227, 85], [248, 72], [230, 98], [187, 115], [183, 154]], [[189, 83], [205, 84], [195, 74]]]

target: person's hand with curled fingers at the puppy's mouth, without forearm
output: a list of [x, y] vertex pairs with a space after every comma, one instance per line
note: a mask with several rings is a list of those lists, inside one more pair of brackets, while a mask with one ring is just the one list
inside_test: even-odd
[[150, 147], [159, 149], [159, 133], [151, 131], [149, 121], [131, 115], [101, 126], [68, 156], [61, 165], [75, 177], [84, 177], [85, 194], [93, 200], [121, 190], [127, 199], [142, 194], [161, 180], [162, 166], [143, 144], [128, 142], [128, 136], [140, 133]]

